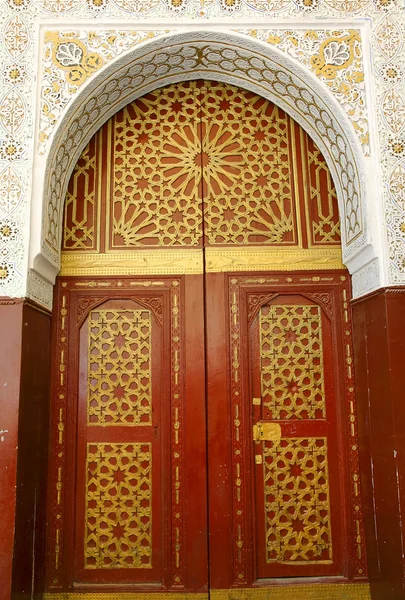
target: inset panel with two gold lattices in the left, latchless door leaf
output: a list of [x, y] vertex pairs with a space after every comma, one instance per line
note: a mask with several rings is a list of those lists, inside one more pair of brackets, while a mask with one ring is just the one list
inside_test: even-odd
[[169, 373], [145, 300], [108, 300], [80, 331], [75, 581], [163, 579]]

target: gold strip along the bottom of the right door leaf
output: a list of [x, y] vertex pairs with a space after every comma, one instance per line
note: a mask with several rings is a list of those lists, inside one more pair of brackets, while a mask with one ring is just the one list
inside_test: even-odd
[[210, 600], [371, 600], [368, 583], [314, 583], [211, 590]]

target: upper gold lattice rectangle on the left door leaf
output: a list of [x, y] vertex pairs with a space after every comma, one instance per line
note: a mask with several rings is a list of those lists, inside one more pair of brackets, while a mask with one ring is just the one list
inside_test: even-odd
[[90, 313], [89, 425], [151, 425], [151, 335], [149, 310]]

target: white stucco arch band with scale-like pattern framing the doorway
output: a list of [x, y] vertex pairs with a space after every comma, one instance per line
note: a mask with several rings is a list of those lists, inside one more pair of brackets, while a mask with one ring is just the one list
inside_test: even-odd
[[[164, 85], [190, 79], [224, 81], [258, 93], [290, 114], [314, 139], [337, 190], [343, 261], [351, 273], [373, 265], [366, 165], [353, 127], [332, 93], [306, 67], [271, 45], [238, 33], [192, 30], [147, 41], [88, 80], [66, 109], [46, 157], [34, 159], [28, 294], [49, 305], [59, 271], [63, 202], [80, 153], [123, 106]], [[371, 279], [373, 279], [373, 277]], [[372, 283], [371, 287], [378, 284]], [[357, 294], [359, 295], [359, 294]]]

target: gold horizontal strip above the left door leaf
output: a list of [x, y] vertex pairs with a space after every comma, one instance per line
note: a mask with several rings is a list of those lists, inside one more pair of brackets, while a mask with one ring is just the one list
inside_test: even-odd
[[204, 269], [203, 251], [129, 250], [92, 254], [62, 252], [60, 275], [192, 275]]

